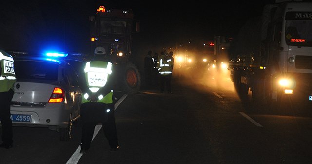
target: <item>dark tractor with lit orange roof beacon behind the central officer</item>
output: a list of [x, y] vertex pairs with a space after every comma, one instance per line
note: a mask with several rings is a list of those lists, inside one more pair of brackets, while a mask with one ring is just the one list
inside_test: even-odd
[[131, 61], [132, 34], [139, 32], [139, 21], [132, 10], [106, 9], [100, 6], [90, 20], [90, 54], [103, 49], [110, 55], [117, 75], [117, 89], [126, 94], [137, 93], [140, 73]]

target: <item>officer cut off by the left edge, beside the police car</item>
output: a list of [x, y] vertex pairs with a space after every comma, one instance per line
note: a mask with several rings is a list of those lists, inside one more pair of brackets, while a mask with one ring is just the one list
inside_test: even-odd
[[11, 55], [0, 50], [0, 120], [2, 124], [2, 143], [0, 147], [9, 149], [13, 147], [13, 131], [11, 120], [11, 101], [16, 82], [14, 60]]

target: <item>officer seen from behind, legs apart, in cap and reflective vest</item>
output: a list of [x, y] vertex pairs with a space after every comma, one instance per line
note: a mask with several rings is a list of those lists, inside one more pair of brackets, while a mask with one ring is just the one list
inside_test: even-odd
[[[111, 151], [116, 151], [119, 149], [119, 145], [113, 104], [114, 71], [112, 70], [113, 64], [111, 58], [105, 58], [108, 56], [105, 54], [106, 51], [103, 47], [97, 47], [93, 60], [86, 63], [83, 70], [84, 73], [81, 74], [82, 76], [79, 76], [79, 83], [83, 92], [81, 107], [86, 105], [86, 102], [101, 102], [107, 104], [109, 109], [107, 110], [108, 118], [107, 121], [103, 120], [102, 128], [105, 137], [108, 139]], [[86, 108], [88, 108], [88, 106], [86, 106]], [[84, 116], [81, 113], [82, 121], [83, 118]], [[83, 123], [80, 153], [84, 154], [90, 148], [94, 128], [98, 123], [84, 121]]]

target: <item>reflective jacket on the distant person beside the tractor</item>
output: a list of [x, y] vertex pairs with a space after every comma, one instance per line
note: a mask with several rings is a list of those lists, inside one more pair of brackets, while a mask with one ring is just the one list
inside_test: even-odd
[[169, 75], [172, 73], [173, 60], [166, 55], [160, 55], [157, 67], [160, 75]]

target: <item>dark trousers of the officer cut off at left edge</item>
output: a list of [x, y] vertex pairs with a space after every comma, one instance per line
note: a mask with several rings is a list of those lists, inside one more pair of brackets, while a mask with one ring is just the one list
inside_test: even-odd
[[6, 144], [11, 144], [13, 142], [13, 132], [12, 132], [12, 120], [11, 117], [11, 101], [13, 98], [13, 90], [10, 89], [7, 92], [0, 92], [0, 120], [2, 124], [2, 141]]

